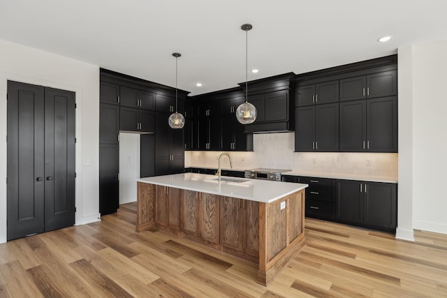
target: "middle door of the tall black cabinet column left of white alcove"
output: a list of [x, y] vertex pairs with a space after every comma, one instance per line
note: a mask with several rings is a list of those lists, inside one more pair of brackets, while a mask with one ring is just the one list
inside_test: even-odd
[[118, 144], [119, 105], [100, 104], [99, 142]]

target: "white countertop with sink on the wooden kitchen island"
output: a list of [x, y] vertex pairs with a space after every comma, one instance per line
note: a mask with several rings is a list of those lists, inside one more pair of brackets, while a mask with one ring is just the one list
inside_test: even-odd
[[221, 177], [221, 182], [214, 179], [217, 179], [217, 176], [184, 173], [140, 178], [137, 181], [264, 203], [274, 202], [308, 186], [300, 183], [235, 177]]

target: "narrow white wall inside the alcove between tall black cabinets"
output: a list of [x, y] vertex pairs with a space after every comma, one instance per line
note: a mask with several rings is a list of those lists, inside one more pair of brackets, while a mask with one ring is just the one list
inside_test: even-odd
[[140, 178], [140, 135], [119, 133], [119, 204], [137, 201]]

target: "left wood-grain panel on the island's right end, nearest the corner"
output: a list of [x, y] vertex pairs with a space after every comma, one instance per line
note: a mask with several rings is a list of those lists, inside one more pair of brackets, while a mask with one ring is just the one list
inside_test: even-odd
[[267, 260], [287, 246], [287, 209], [280, 209], [278, 204], [268, 204], [266, 210]]

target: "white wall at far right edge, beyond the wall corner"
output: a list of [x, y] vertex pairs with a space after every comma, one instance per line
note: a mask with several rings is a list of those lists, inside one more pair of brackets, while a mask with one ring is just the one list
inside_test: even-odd
[[447, 234], [447, 40], [413, 45], [411, 63], [413, 228]]

